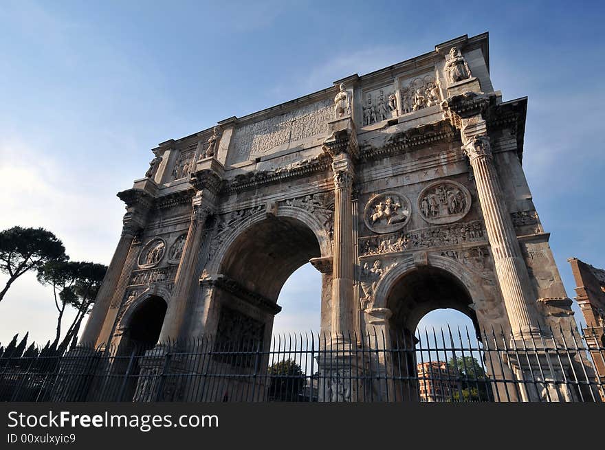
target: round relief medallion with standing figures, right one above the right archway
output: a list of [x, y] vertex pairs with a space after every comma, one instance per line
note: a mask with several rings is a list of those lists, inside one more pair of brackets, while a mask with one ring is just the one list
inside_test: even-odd
[[437, 181], [421, 190], [418, 210], [428, 223], [459, 221], [470, 210], [470, 192], [455, 181]]

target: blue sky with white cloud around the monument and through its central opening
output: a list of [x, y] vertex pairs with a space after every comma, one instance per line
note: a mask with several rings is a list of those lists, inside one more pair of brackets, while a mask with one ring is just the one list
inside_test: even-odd
[[[492, 82], [529, 96], [523, 165], [567, 294], [566, 258], [605, 267], [602, 2], [3, 1], [0, 228], [43, 226], [72, 259], [109, 263], [159, 142], [489, 32]], [[2, 282], [4, 278], [0, 278]], [[318, 328], [319, 277], [287, 282], [276, 328]], [[24, 275], [0, 341], [54, 328]], [[281, 317], [280, 317], [281, 316]]]

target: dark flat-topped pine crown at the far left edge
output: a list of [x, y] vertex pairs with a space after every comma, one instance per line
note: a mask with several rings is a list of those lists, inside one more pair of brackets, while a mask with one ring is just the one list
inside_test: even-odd
[[0, 272], [9, 275], [0, 291], [0, 301], [14, 280], [52, 260], [65, 258], [65, 247], [43, 228], [12, 227], [0, 232]]

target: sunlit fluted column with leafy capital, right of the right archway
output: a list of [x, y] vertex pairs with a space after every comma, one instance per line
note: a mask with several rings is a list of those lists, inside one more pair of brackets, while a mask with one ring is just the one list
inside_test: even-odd
[[494, 256], [496, 276], [511, 329], [514, 335], [520, 332], [524, 335], [538, 333], [529, 306], [533, 302], [529, 274], [500, 188], [489, 137], [474, 135], [465, 140], [467, 143], [463, 150], [473, 169], [487, 238]]

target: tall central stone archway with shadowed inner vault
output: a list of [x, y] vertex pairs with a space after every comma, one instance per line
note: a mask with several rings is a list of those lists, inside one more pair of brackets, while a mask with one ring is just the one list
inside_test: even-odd
[[[206, 265], [212, 305], [205, 333], [218, 341], [243, 333], [270, 341], [283, 284], [309, 260], [331, 257], [329, 230], [299, 207], [282, 206], [275, 214], [259, 212], [226, 236]], [[329, 265], [329, 264], [328, 264]], [[322, 318], [329, 317], [331, 273], [322, 270]], [[324, 320], [322, 320], [323, 324]], [[238, 324], [238, 325], [234, 325]]]

